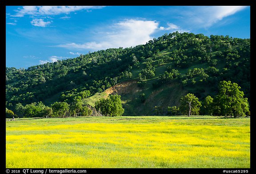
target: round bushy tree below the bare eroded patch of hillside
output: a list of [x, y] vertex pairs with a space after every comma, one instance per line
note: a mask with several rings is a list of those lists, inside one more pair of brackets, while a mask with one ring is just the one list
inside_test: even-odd
[[97, 111], [101, 111], [105, 116], [121, 116], [124, 113], [124, 108], [121, 103], [121, 96], [110, 95], [108, 98], [100, 99], [95, 104]]

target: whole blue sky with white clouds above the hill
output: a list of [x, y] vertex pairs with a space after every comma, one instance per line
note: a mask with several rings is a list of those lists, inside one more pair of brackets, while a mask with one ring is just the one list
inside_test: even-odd
[[175, 31], [250, 38], [250, 6], [6, 6], [6, 66], [27, 69]]

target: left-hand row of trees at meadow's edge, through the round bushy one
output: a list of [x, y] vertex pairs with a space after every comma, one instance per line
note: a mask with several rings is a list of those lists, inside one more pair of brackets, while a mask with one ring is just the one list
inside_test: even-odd
[[[95, 108], [104, 116], [121, 116], [124, 113], [124, 108], [121, 103], [120, 95], [109, 95], [108, 98], [100, 99], [96, 102]], [[15, 106], [15, 113], [6, 108], [6, 118], [13, 117], [75, 117], [75, 116], [90, 116], [92, 110], [83, 104], [83, 101], [76, 98], [72, 103], [68, 104], [65, 101], [55, 102], [50, 106], [45, 106], [41, 101], [33, 102], [23, 106], [18, 103]]]

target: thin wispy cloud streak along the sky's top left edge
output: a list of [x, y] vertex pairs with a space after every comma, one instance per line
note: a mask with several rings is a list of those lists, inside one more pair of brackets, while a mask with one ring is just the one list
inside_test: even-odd
[[68, 14], [79, 10], [99, 9], [105, 6], [23, 6], [15, 10], [12, 16], [23, 17], [24, 15], [59, 15]]

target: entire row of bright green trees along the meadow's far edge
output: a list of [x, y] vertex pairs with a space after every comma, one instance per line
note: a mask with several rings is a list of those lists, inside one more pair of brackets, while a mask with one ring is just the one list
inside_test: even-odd
[[[144, 95], [141, 95], [143, 99]], [[110, 95], [108, 98], [96, 102], [95, 108], [104, 116], [121, 116], [124, 108], [120, 95]], [[66, 117], [66, 116], [88, 116], [92, 113], [87, 106], [84, 106], [80, 99], [75, 99], [72, 104], [66, 102], [55, 102], [51, 107], [45, 106], [42, 102], [16, 104], [15, 110], [23, 117]], [[155, 107], [156, 115], [160, 114], [159, 107]], [[192, 93], [188, 93], [180, 99], [180, 106], [168, 107], [168, 115], [219, 115], [219, 116], [250, 116], [248, 98], [244, 98], [240, 86], [231, 81], [221, 81], [219, 92], [212, 98], [205, 97], [203, 101]], [[6, 117], [17, 116], [6, 108]]]

